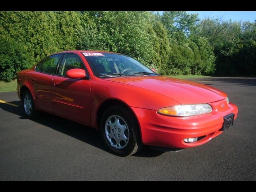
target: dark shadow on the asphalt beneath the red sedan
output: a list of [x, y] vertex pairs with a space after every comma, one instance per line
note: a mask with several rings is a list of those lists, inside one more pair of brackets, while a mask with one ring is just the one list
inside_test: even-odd
[[[19, 107], [14, 107], [8, 104], [0, 103], [0, 108], [7, 112], [20, 116], [19, 119], [17, 119], [17, 121], [27, 119], [24, 117], [24, 113], [22, 111], [22, 108], [20, 107], [20, 101], [14, 101], [9, 103], [16, 104]], [[32, 121], [52, 128], [58, 132], [62, 132], [68, 136], [81, 140], [82, 142], [86, 142], [87, 144], [95, 146], [106, 152], [110, 152], [102, 142], [100, 133], [94, 128], [90, 128], [82, 124], [46, 112], [40, 112], [40, 116], [36, 119], [33, 119]], [[154, 151], [148, 146], [144, 146], [144, 148], [142, 148], [142, 150], [139, 151], [138, 153], [134, 154], [134, 156], [156, 157], [161, 155], [162, 153], [163, 152]]]

